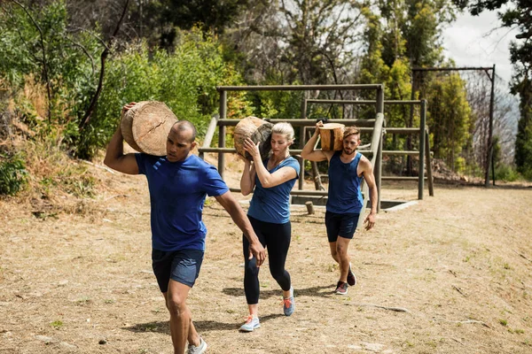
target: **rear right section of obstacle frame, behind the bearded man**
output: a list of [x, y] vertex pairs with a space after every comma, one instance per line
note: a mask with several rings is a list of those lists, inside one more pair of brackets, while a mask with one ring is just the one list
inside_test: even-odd
[[[329, 99], [305, 99], [301, 115], [307, 115], [307, 108], [309, 104], [353, 104], [353, 105], [372, 105], [376, 104], [376, 101], [371, 100], [329, 100]], [[428, 127], [426, 126], [426, 100], [410, 100], [410, 101], [384, 101], [384, 105], [419, 105], [419, 127], [386, 127], [384, 128], [384, 134], [403, 134], [414, 135], [419, 134], [419, 150], [383, 150], [382, 155], [418, 155], [419, 156], [419, 176], [418, 177], [385, 177], [381, 176], [381, 180], [397, 180], [397, 181], [418, 181], [418, 199], [423, 199], [423, 192], [425, 189], [425, 165], [428, 181], [428, 193], [430, 196], [434, 196], [434, 180], [432, 175], [432, 161], [430, 156], [430, 142], [428, 139]], [[338, 119], [345, 122], [348, 119]], [[328, 120], [329, 121], [329, 120]], [[370, 132], [372, 128], [360, 127], [361, 132]], [[359, 150], [364, 153], [364, 150]], [[426, 161], [424, 160], [424, 157]], [[379, 189], [380, 195], [380, 189]]]

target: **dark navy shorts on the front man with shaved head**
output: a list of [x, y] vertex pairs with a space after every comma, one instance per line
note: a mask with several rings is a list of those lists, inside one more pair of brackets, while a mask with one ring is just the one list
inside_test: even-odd
[[152, 250], [153, 273], [160, 291], [168, 291], [170, 279], [192, 288], [200, 275], [203, 254], [202, 250]]

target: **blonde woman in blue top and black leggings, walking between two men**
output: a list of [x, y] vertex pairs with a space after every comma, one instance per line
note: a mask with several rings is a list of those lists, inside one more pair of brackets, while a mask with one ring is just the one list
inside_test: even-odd
[[[290, 156], [288, 148], [293, 144], [293, 127], [289, 123], [278, 123], [271, 129], [271, 154], [261, 159], [259, 143], [251, 139], [244, 142], [253, 162], [245, 159], [240, 179], [242, 194], [254, 193], [249, 204], [247, 217], [264, 248], [268, 249], [271, 276], [283, 289], [283, 311], [290, 316], [295, 309], [290, 274], [285, 269], [286, 255], [290, 246], [292, 227], [290, 224], [290, 191], [300, 173], [298, 161]], [[249, 316], [240, 327], [242, 332], [252, 332], [261, 327], [259, 321], [259, 268], [255, 258], [248, 258], [249, 246], [242, 238], [245, 259], [244, 289]]]

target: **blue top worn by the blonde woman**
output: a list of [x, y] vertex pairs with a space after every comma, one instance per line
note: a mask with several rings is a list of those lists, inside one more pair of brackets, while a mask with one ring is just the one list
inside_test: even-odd
[[[268, 160], [267, 158], [262, 161], [266, 168], [268, 168]], [[295, 178], [269, 189], [262, 187], [259, 177], [255, 175], [255, 189], [247, 215], [254, 219], [274, 224], [285, 224], [290, 220], [290, 191], [293, 189], [293, 185], [300, 173], [299, 162], [293, 157], [288, 157], [269, 172], [274, 173], [286, 166], [290, 166], [295, 170]]]

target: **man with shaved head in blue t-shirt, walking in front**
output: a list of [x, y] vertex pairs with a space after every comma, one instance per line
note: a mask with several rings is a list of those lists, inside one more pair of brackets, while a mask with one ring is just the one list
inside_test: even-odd
[[[133, 106], [127, 104], [124, 110]], [[215, 167], [192, 155], [196, 128], [180, 120], [170, 129], [167, 156], [124, 154], [120, 125], [109, 142], [104, 163], [121, 173], [145, 174], [150, 190], [153, 273], [168, 312], [175, 353], [203, 353], [207, 343], [192, 324], [186, 305], [190, 289], [200, 273], [207, 229], [201, 220], [206, 196], [215, 196], [242, 230], [250, 246], [250, 258], [262, 265], [265, 251], [237, 200]]]

